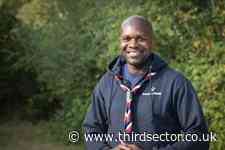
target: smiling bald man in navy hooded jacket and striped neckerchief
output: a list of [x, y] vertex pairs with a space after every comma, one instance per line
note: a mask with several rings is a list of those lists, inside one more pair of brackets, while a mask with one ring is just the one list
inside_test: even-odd
[[[190, 83], [152, 50], [151, 24], [142, 16], [121, 25], [121, 54], [96, 85], [83, 122], [86, 135], [112, 134], [86, 141], [90, 150], [208, 150], [208, 142], [149, 140], [152, 134], [207, 133]], [[121, 136], [119, 133], [124, 133]], [[141, 140], [140, 134], [148, 140]], [[131, 139], [139, 134], [139, 139]]]

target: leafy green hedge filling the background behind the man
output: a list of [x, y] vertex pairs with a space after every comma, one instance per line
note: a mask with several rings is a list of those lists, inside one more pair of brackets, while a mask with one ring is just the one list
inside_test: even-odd
[[42, 103], [60, 99], [63, 113], [56, 112], [55, 119], [80, 131], [93, 87], [119, 53], [121, 22], [143, 15], [153, 24], [153, 51], [192, 81], [210, 131], [218, 135], [211, 149], [225, 147], [224, 0], [24, 0], [8, 5], [16, 8], [11, 15], [19, 21], [0, 28], [15, 41], [9, 48], [1, 38], [11, 50], [7, 58], [15, 60], [10, 68], [31, 72], [38, 82], [39, 93], [27, 98], [29, 111], [46, 111], [51, 102]]

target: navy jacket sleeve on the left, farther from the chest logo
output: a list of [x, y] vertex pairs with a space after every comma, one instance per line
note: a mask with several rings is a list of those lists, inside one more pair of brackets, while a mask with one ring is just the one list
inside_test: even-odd
[[104, 138], [102, 140], [94, 138], [95, 136], [106, 134], [108, 130], [104, 97], [100, 88], [100, 84], [97, 84], [92, 93], [91, 104], [83, 121], [84, 142], [87, 150], [111, 149]]

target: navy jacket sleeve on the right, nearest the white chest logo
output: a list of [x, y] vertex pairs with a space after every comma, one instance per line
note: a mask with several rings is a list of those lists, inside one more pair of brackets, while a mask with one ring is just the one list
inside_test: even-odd
[[[178, 122], [184, 134], [196, 134], [202, 139], [208, 133], [203, 112], [190, 81], [183, 76], [178, 77], [173, 88], [173, 105]], [[189, 138], [190, 139], [190, 138]], [[207, 138], [204, 138], [207, 139]], [[208, 141], [177, 141], [158, 150], [208, 150]]]

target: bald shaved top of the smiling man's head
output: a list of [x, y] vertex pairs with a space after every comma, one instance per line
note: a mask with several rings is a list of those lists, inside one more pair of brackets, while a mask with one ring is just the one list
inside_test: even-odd
[[145, 32], [148, 32], [151, 36], [153, 35], [151, 23], [143, 16], [135, 15], [125, 19], [121, 24], [121, 31], [128, 26], [138, 27], [144, 30]]

